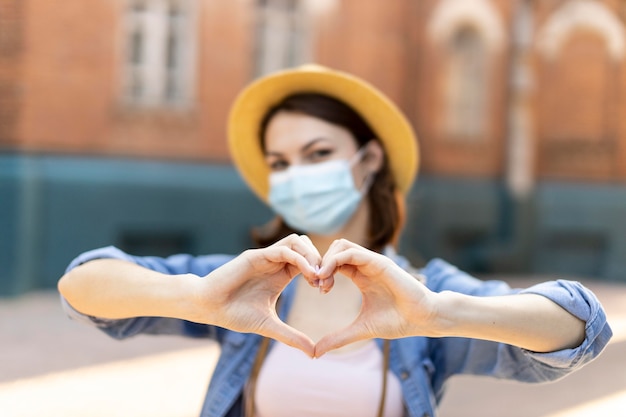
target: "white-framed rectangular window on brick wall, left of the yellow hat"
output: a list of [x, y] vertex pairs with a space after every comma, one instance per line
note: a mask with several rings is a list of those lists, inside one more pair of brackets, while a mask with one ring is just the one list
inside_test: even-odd
[[129, 0], [123, 99], [140, 107], [189, 105], [194, 85], [194, 0]]

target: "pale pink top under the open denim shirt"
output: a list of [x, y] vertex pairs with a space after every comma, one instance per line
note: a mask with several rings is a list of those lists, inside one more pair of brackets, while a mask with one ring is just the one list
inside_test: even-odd
[[[256, 417], [376, 417], [382, 366], [383, 355], [374, 340], [318, 359], [274, 342], [257, 379]], [[401, 417], [400, 382], [387, 372], [384, 416]]]

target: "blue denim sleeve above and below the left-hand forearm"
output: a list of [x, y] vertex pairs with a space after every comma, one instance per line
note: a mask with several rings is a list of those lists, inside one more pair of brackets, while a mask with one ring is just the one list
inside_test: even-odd
[[[79, 265], [96, 259], [119, 259], [166, 275], [195, 274], [203, 277], [232, 258], [232, 255], [142, 257], [129, 255], [114, 246], [108, 246], [79, 255], [69, 264], [66, 273]], [[115, 320], [95, 317], [79, 312], [63, 296], [61, 296], [61, 305], [66, 314], [73, 320], [95, 326], [116, 339], [124, 339], [140, 333], [220, 338], [219, 329], [185, 320], [168, 317], [133, 317]]]

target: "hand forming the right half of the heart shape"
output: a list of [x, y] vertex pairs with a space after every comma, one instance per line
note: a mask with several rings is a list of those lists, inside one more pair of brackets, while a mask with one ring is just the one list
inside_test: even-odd
[[390, 258], [337, 240], [324, 255], [318, 276], [332, 282], [335, 273], [350, 278], [359, 288], [361, 310], [348, 327], [317, 342], [316, 357], [359, 340], [434, 335], [437, 295]]

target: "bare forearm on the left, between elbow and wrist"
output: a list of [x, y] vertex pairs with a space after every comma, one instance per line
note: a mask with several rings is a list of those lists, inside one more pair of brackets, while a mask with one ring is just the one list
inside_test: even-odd
[[60, 293], [79, 312], [122, 319], [139, 316], [186, 318], [198, 277], [164, 275], [117, 259], [97, 259], [65, 274]]

